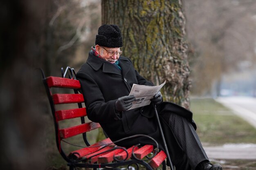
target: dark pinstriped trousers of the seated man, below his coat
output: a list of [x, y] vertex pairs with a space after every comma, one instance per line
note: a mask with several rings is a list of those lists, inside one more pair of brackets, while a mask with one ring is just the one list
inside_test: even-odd
[[198, 163], [209, 160], [195, 129], [186, 118], [164, 113], [159, 114], [159, 119], [175, 170], [194, 170]]

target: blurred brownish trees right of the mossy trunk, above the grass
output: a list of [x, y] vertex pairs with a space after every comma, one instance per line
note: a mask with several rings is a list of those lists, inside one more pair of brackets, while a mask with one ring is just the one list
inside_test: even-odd
[[184, 1], [192, 94], [254, 96], [256, 91], [254, 0]]

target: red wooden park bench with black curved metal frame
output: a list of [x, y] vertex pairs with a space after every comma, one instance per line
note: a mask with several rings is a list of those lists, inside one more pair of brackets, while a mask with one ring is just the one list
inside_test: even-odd
[[[154, 168], [159, 167], [161, 164], [162, 169], [165, 170], [166, 154], [163, 151], [155, 151], [152, 145], [123, 148], [113, 144], [109, 138], [90, 145], [86, 132], [95, 130], [101, 126], [92, 121], [85, 121], [87, 114], [85, 108], [82, 106], [84, 99], [83, 95], [79, 93], [81, 85], [79, 80], [75, 79], [74, 70], [71, 68], [68, 69], [71, 73], [70, 78], [63, 78], [65, 77], [67, 70], [65, 71], [64, 75], [62, 73], [63, 77], [50, 76], [45, 78], [43, 71], [42, 75], [43, 83], [45, 85], [46, 93], [52, 109], [58, 152], [61, 154], [63, 159], [67, 161], [67, 165], [70, 167], [70, 170], [74, 170], [75, 167], [93, 168], [94, 170], [97, 168], [121, 170], [118, 167], [126, 166], [129, 169], [129, 166], [132, 165], [135, 165], [137, 169], [139, 169], [139, 167], [143, 167], [147, 170], [153, 170]], [[64, 94], [53, 94], [56, 90], [52, 89], [55, 88], [73, 89], [74, 92], [67, 93], [67, 90], [64, 90]], [[58, 89], [58, 91], [60, 90]], [[57, 105], [71, 103], [77, 103], [78, 106], [76, 108], [57, 110]], [[68, 128], [60, 128], [61, 121], [72, 120], [79, 117], [81, 118], [81, 124], [79, 123], [78, 125]], [[62, 142], [65, 142], [65, 139], [67, 138], [71, 138], [79, 134], [82, 134], [83, 141], [87, 147], [65, 153], [61, 145]], [[152, 152], [155, 153], [155, 156], [148, 158], [147, 155], [150, 153], [152, 155]], [[139, 164], [141, 166], [139, 166]]]

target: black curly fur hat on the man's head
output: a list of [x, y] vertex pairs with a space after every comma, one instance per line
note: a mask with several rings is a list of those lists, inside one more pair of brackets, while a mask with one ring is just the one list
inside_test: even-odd
[[121, 30], [117, 25], [104, 24], [99, 27], [95, 45], [116, 48], [123, 46]]

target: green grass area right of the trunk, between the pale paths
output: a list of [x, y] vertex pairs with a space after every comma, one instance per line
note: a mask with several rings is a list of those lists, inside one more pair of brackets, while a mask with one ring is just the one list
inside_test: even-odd
[[256, 144], [256, 129], [214, 99], [191, 99], [191, 111], [203, 143]]

